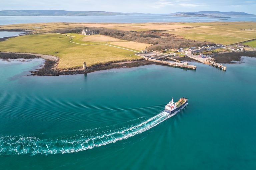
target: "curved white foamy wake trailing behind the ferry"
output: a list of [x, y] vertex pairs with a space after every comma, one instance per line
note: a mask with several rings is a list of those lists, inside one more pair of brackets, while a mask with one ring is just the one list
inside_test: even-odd
[[161, 112], [148, 120], [122, 128], [79, 130], [70, 136], [58, 136], [51, 139], [36, 136], [0, 136], [0, 155], [48, 155], [92, 149], [142, 133], [174, 115]]

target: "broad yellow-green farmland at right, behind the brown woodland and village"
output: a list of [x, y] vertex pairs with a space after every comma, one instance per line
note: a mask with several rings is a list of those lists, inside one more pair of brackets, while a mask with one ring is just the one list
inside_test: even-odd
[[183, 36], [185, 39], [210, 41], [225, 45], [256, 38], [255, 22], [208, 22], [189, 23], [183, 28], [168, 30], [167, 33]]

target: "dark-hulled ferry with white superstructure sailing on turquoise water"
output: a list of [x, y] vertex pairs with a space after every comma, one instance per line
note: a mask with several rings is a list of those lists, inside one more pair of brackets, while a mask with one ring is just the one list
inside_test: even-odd
[[165, 106], [165, 112], [169, 114], [176, 114], [180, 110], [184, 109], [188, 105], [188, 99], [185, 97], [180, 98], [180, 100], [176, 103], [170, 101], [166, 106]]

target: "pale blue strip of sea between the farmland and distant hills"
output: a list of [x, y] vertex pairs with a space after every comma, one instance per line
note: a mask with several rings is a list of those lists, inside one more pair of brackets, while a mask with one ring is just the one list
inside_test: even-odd
[[256, 21], [256, 17], [173, 17], [166, 15], [128, 16], [0, 16], [0, 25], [44, 22], [146, 23], [146, 22], [211, 22]]

